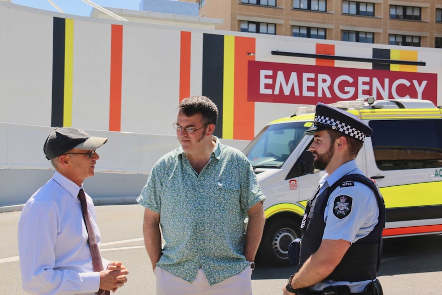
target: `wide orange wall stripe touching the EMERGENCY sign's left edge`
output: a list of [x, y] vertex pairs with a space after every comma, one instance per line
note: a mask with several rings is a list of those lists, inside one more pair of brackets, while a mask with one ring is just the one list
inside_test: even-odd
[[233, 139], [235, 140], [252, 140], [255, 135], [255, 103], [247, 101], [247, 67], [249, 61], [255, 60], [254, 53], [255, 38], [235, 37], [233, 102]]

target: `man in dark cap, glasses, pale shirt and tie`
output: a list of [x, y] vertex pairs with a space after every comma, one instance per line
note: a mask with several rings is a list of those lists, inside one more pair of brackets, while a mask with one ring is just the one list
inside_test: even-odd
[[18, 252], [23, 289], [31, 294], [108, 294], [129, 271], [101, 258], [92, 199], [83, 181], [94, 175], [95, 149], [107, 142], [72, 127], [55, 129], [43, 150], [55, 173], [23, 207]]

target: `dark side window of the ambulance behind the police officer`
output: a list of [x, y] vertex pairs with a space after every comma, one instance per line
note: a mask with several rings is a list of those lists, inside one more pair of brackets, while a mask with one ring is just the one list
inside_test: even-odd
[[380, 170], [442, 167], [442, 120], [373, 120], [369, 125]]

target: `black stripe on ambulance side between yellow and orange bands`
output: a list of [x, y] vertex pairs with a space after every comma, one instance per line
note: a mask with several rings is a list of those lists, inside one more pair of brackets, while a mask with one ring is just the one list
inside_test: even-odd
[[388, 208], [386, 221], [410, 221], [442, 218], [442, 205]]

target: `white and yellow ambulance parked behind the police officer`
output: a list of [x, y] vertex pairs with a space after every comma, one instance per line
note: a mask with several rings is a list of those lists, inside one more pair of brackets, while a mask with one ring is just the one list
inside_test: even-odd
[[[386, 204], [384, 238], [442, 233], [442, 107], [417, 99], [330, 104], [365, 121], [367, 137], [356, 162], [375, 180]], [[266, 225], [257, 260], [287, 266], [290, 242], [300, 236], [307, 200], [325, 171], [308, 150], [314, 106], [269, 123], [244, 152], [267, 196]]]

